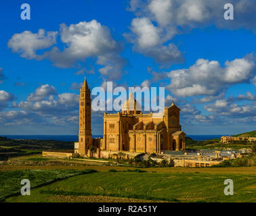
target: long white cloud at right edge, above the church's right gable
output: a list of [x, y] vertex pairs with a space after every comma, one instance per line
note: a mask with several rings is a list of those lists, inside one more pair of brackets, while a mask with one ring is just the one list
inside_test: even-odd
[[171, 83], [167, 88], [179, 97], [216, 96], [232, 84], [249, 82], [254, 73], [254, 61], [246, 58], [226, 61], [225, 67], [218, 61], [198, 59], [188, 69], [169, 72]]

